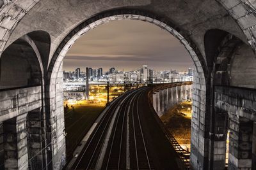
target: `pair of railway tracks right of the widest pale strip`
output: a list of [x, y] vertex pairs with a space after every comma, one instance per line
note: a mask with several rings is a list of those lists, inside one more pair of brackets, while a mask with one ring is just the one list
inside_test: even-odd
[[143, 91], [129, 96], [122, 105], [102, 169], [152, 169], [138, 117], [138, 98]]

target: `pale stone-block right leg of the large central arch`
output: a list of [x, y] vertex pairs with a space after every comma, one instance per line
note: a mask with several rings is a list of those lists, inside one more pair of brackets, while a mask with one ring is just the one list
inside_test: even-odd
[[207, 169], [208, 156], [208, 137], [207, 134], [207, 117], [206, 113], [206, 85], [205, 79], [196, 69], [193, 72], [193, 105], [191, 120], [191, 169]]

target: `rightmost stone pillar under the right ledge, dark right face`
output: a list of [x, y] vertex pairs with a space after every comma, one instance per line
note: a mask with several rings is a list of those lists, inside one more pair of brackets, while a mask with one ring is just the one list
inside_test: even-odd
[[252, 169], [253, 122], [230, 118], [228, 169]]

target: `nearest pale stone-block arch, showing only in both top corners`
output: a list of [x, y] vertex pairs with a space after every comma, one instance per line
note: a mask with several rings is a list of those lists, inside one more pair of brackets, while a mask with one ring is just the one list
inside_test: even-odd
[[[6, 48], [6, 43], [13, 30], [17, 27], [17, 24], [24, 16], [26, 16], [37, 3], [41, 3], [43, 0], [27, 0], [27, 1], [1, 1], [1, 13], [4, 14], [1, 20], [0, 27], [0, 52]], [[256, 24], [256, 19], [253, 17], [255, 11], [255, 3], [251, 1], [232, 1], [232, 0], [216, 0], [218, 1], [225, 10], [236, 20], [241, 30], [244, 32], [248, 43], [255, 50], [255, 28], [253, 25]], [[12, 10], [10, 10], [12, 9]]]

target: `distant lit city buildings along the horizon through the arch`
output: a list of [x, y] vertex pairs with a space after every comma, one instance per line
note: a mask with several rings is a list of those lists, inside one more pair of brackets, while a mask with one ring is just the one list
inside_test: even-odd
[[[88, 78], [88, 79], [87, 79]], [[147, 65], [130, 71], [118, 71], [115, 67], [108, 71], [102, 71], [102, 68], [86, 67], [86, 72], [77, 67], [75, 71], [63, 71], [64, 81], [113, 81], [113, 82], [173, 82], [173, 81], [191, 81], [193, 79], [193, 69], [188, 68], [186, 72], [176, 70], [157, 71]]]

